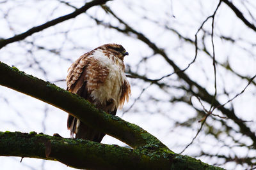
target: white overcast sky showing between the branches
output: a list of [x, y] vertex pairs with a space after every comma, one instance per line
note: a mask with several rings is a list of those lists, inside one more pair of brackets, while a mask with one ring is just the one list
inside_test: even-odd
[[[240, 6], [240, 10], [244, 11], [244, 16], [255, 24], [255, 20], [250, 19], [250, 14], [245, 12], [246, 9], [239, 3], [240, 1], [233, 2], [235, 5]], [[256, 6], [255, 1], [251, 0], [248, 2]], [[72, 1], [71, 4], [79, 8], [83, 6], [84, 1]], [[134, 29], [143, 32], [157, 46], [164, 48], [168, 53], [168, 57], [178, 66], [184, 68], [193, 60], [195, 46], [180, 41], [172, 31], [166, 31], [163, 25], [179, 30], [183, 36], [195, 39], [197, 29], [205, 18], [212, 15], [218, 1], [114, 0], [109, 1], [107, 4]], [[252, 6], [248, 6], [248, 8], [251, 9], [252, 15], [256, 17], [256, 10], [252, 10]], [[44, 24], [44, 22], [72, 11], [74, 11], [73, 8], [61, 4], [59, 1], [19, 0], [0, 3], [0, 38], [9, 38], [14, 34], [20, 34], [33, 26]], [[163, 58], [159, 55], [154, 55], [145, 43], [132, 38], [132, 36], [124, 36], [124, 34], [120, 34], [112, 29], [98, 26], [89, 15], [97, 17], [99, 20], [104, 20], [104, 22], [118, 25], [118, 22], [106, 15], [101, 8], [93, 7], [86, 14], [54, 25], [54, 27], [49, 27], [18, 43], [7, 45], [0, 50], [1, 62], [9, 66], [16, 66], [21, 71], [33, 74], [33, 76], [42, 78], [45, 81], [54, 82], [65, 79], [70, 64], [83, 53], [105, 43], [119, 43], [129, 52], [129, 56], [125, 58], [125, 64], [131, 67], [133, 71], [138, 71], [138, 73], [145, 74], [148, 78], [153, 79], [173, 72], [173, 69], [164, 62]], [[234, 39], [244, 39], [244, 41], [238, 41], [236, 46], [218, 38], [214, 39], [216, 60], [218, 62], [228, 61], [237, 73], [244, 76], [253, 76], [256, 73], [256, 50], [250, 43], [256, 43], [255, 32], [244, 26], [225, 4], [221, 4], [215, 21], [214, 33], [216, 36], [223, 35]], [[211, 20], [205, 24], [204, 29], [209, 32], [211, 31]], [[198, 37], [202, 38], [202, 33], [199, 33]], [[61, 53], [56, 55], [47, 50], [38, 50], [29, 42], [33, 42], [37, 46], [44, 46], [44, 48], [49, 50], [60, 50]], [[209, 36], [206, 38], [205, 43], [212, 52]], [[202, 42], [198, 42], [198, 44], [202, 45]], [[138, 67], [142, 57], [152, 55], [154, 56], [148, 59], [145, 64]], [[217, 67], [217, 70], [218, 92], [220, 92], [218, 99], [225, 103], [228, 98], [221, 96], [223, 88], [230, 92], [230, 97], [232, 97], [243, 90], [246, 86], [246, 81], [241, 81], [221, 67]], [[189, 67], [186, 73], [193, 80], [200, 82], [200, 85], [209, 90], [209, 92], [214, 93], [212, 60], [204, 53], [198, 53], [196, 62]], [[172, 85], [175, 86], [179, 83], [174, 80], [175, 78], [176, 76], [173, 75], [173, 77], [171, 76], [164, 81], [172, 82], [173, 80]], [[140, 127], [163, 141], [174, 152], [181, 152], [184, 146], [188, 145], [191, 139], [193, 139], [200, 124], [195, 123], [188, 130], [175, 126], [173, 122], [183, 122], [188, 120], [188, 118], [195, 117], [195, 110], [186, 104], [168, 103], [170, 96], [152, 85], [143, 93], [140, 101], [134, 104], [131, 110], [122, 114], [123, 111], [132, 105], [134, 99], [140, 96], [141, 90], [148, 87], [148, 83], [143, 81], [132, 80], [131, 78], [129, 78], [129, 81], [132, 85], [131, 100], [129, 103], [125, 103], [124, 109], [118, 111], [117, 115], [128, 122], [140, 125]], [[65, 81], [58, 81], [56, 85], [66, 89]], [[179, 93], [179, 90], [170, 90], [168, 92], [176, 95]], [[252, 131], [255, 131], [256, 99], [253, 93], [255, 93], [255, 86], [248, 87], [242, 96], [233, 101], [233, 104], [239, 118], [253, 121], [248, 126], [250, 126]], [[156, 101], [150, 100], [150, 94], [154, 94], [156, 99], [166, 102], [156, 103]], [[200, 107], [200, 103], [196, 99], [192, 99], [192, 101], [195, 106]], [[146, 102], [148, 104], [145, 104]], [[205, 106], [209, 107], [207, 104]], [[227, 106], [230, 105], [227, 104]], [[151, 113], [148, 113], [148, 111], [151, 111]], [[209, 122], [211, 121], [213, 120], [209, 119]], [[227, 120], [227, 124], [232, 125], [232, 122]], [[220, 125], [216, 122], [216, 127], [220, 127]], [[236, 128], [238, 127], [234, 126], [234, 129]], [[0, 131], [36, 131], [49, 135], [57, 132], [61, 136], [69, 138], [67, 113], [42, 101], [0, 86]], [[223, 138], [226, 138], [226, 136], [223, 136]], [[244, 140], [246, 143], [247, 138], [244, 138]], [[227, 138], [226, 142], [227, 145], [232, 145], [232, 140]], [[102, 143], [125, 146], [124, 143], [109, 136], [106, 136]], [[248, 143], [250, 144], [250, 141]], [[227, 152], [225, 148], [220, 148], [216, 139], [204, 134], [199, 135], [195, 140], [195, 145], [190, 146], [184, 154], [193, 155], [193, 153], [197, 152], [199, 145], [205, 152], [211, 150], [212, 153], [233, 154]], [[235, 152], [237, 155], [244, 155], [248, 153], [248, 150], [246, 148], [234, 148]], [[255, 155], [256, 157], [255, 150], [248, 154]], [[209, 164], [215, 161], [204, 157], [200, 159]], [[243, 169], [234, 163], [225, 164], [223, 167], [227, 169], [234, 169], [235, 167], [236, 169]], [[20, 163], [19, 157], [0, 157], [0, 169], [72, 168], [54, 161], [24, 158]]]

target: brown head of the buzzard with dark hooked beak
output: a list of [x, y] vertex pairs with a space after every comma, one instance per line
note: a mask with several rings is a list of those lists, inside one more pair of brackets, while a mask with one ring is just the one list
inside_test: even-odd
[[109, 52], [113, 53], [115, 57], [118, 57], [121, 60], [124, 60], [125, 55], [129, 55], [128, 52], [124, 49], [122, 45], [118, 44], [106, 44], [102, 45], [102, 48], [108, 50]]

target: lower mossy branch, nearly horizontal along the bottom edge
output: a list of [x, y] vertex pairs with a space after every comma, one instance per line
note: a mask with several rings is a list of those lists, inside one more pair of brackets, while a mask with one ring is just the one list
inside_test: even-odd
[[58, 160], [79, 169], [221, 169], [170, 150], [132, 150], [36, 132], [0, 132], [0, 155]]

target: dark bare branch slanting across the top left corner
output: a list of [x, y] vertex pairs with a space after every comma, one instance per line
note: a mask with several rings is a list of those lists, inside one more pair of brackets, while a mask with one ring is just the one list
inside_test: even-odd
[[59, 24], [60, 22], [63, 22], [65, 20], [69, 20], [71, 18], [75, 18], [77, 15], [80, 15], [81, 13], [84, 13], [89, 8], [91, 8], [93, 6], [97, 6], [99, 4], [104, 4], [107, 1], [110, 1], [110, 0], [94, 0], [94, 1], [91, 1], [89, 3], [84, 4], [84, 6], [82, 6], [81, 8], [78, 8], [74, 12], [69, 13], [68, 15], [64, 15], [62, 17], [55, 18], [54, 20], [51, 20], [49, 22], [45, 22], [45, 24], [33, 27], [33, 28], [29, 29], [28, 31], [23, 32], [22, 34], [18, 34], [18, 35], [13, 36], [12, 38], [3, 39], [3, 40], [0, 41], [0, 49], [3, 48], [4, 46], [10, 44], [10, 43], [13, 43], [15, 41], [20, 41], [22, 39], [25, 39], [26, 37], [31, 36], [35, 32], [42, 31], [44, 29], [47, 29], [48, 27], [51, 27], [51, 26], [56, 25], [56, 24]]

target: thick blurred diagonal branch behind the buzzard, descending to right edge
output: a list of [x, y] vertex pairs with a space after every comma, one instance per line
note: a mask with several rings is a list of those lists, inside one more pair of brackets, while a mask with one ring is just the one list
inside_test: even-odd
[[[111, 11], [111, 13], [113, 13], [113, 12]], [[168, 62], [168, 64], [170, 64], [170, 66], [173, 67], [177, 76], [179, 76], [180, 79], [186, 81], [186, 83], [189, 85], [189, 89], [187, 89], [188, 92], [191, 92], [193, 95], [200, 97], [203, 101], [205, 101], [209, 104], [212, 103], [212, 99], [214, 99], [214, 96], [209, 94], [209, 92], [207, 92], [207, 90], [204, 89], [204, 87], [202, 87], [201, 85], [199, 85], [195, 81], [191, 80], [191, 78], [189, 78], [189, 76], [186, 73], [184, 73], [184, 71], [183, 71], [184, 69], [180, 69], [180, 67], [177, 66], [173, 62], [173, 60], [171, 60], [168, 57], [168, 55], [164, 52], [163, 49], [158, 48], [158, 46], [154, 42], [150, 41], [150, 39], [148, 39], [144, 34], [142, 34], [141, 32], [136, 31], [135, 29], [132, 29], [132, 27], [130, 27], [128, 24], [126, 24], [124, 22], [124, 20], [122, 20], [121, 18], [118, 18], [115, 14], [113, 15], [113, 17], [115, 17], [121, 24], [124, 24], [124, 26], [125, 26], [124, 29], [121, 29], [119, 27], [115, 27], [111, 24], [106, 24], [106, 23], [104, 23], [100, 20], [97, 20], [97, 18], [93, 18], [93, 19], [95, 20], [95, 22], [97, 22], [97, 24], [101, 24], [101, 25], [104, 25], [105, 27], [115, 29], [116, 31], [127, 34], [128, 36], [136, 35], [137, 38], [140, 39], [141, 41], [143, 41], [145, 44], [147, 44], [154, 51], [154, 53], [162, 55], [163, 58], [166, 60], [166, 62]], [[196, 89], [198, 89], [198, 90], [196, 90], [197, 92], [195, 92], [195, 90], [192, 90], [193, 87], [196, 87]], [[241, 133], [250, 137], [253, 141], [253, 147], [256, 148], [256, 136], [255, 136], [254, 132], [252, 132], [250, 130], [250, 128], [247, 127], [246, 124], [244, 124], [243, 120], [241, 120], [240, 118], [238, 118], [236, 116], [236, 113], [234, 113], [234, 110], [228, 110], [225, 107], [219, 107], [219, 106], [221, 106], [221, 104], [218, 100], [215, 100], [214, 103], [212, 103], [212, 106], [218, 108], [218, 110], [220, 110], [224, 115], [227, 115], [228, 118], [234, 120], [234, 122], [236, 122], [236, 124], [241, 129]]]

